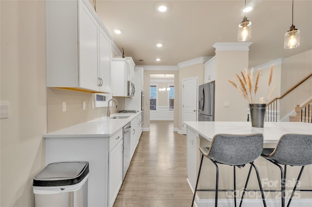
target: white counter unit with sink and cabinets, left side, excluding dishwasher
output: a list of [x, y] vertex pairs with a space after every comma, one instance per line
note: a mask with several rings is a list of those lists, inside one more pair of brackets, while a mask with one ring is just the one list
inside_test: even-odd
[[[45, 163], [88, 161], [88, 206], [111, 207], [122, 184], [123, 127], [140, 118], [140, 112], [112, 114], [111, 117], [45, 134]], [[132, 127], [134, 131], [137, 129], [136, 126]], [[137, 132], [137, 135], [140, 136], [140, 133]], [[135, 150], [137, 141], [131, 142], [131, 151]]]

